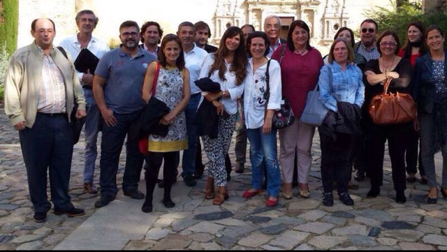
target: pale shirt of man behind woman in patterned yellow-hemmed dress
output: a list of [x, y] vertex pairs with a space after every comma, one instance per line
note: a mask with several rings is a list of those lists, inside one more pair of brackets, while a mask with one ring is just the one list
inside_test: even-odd
[[200, 89], [196, 86], [196, 80], [199, 79], [200, 68], [202, 68], [203, 60], [207, 57], [207, 51], [194, 44], [189, 52], [184, 52], [184, 62], [189, 70], [189, 87], [191, 87], [191, 95], [198, 94]]

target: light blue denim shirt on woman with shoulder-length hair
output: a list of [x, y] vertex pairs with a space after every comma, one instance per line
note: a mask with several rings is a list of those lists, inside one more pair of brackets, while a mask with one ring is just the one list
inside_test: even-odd
[[[332, 90], [330, 87], [330, 73], [332, 70]], [[362, 82], [362, 71], [358, 66], [346, 64], [342, 67], [335, 61], [332, 64], [323, 66], [318, 78], [320, 88], [320, 99], [329, 110], [337, 112], [337, 101], [344, 101], [362, 106], [365, 101], [365, 85]]]

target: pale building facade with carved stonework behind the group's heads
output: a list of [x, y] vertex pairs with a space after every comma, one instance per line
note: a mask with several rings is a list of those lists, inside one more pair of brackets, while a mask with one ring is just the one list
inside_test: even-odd
[[20, 0], [18, 46], [27, 45], [31, 21], [36, 17], [50, 17], [57, 24], [56, 41], [75, 34], [75, 14], [82, 9], [94, 10], [100, 22], [95, 36], [105, 41], [118, 38], [118, 27], [125, 20], [139, 24], [154, 20], [165, 34], [175, 33], [185, 20], [203, 20], [210, 24], [210, 43], [217, 45], [229, 26], [253, 24], [262, 30], [264, 18], [281, 18], [281, 36], [286, 37], [293, 20], [304, 20], [311, 29], [311, 44], [322, 52], [328, 50], [335, 32], [340, 27], [359, 29], [365, 10], [381, 6], [393, 8], [389, 0]]

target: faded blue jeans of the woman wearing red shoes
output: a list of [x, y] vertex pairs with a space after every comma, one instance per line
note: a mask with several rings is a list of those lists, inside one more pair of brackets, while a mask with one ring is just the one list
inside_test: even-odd
[[278, 197], [281, 186], [281, 172], [279, 172], [277, 158], [277, 130], [263, 134], [261, 128], [247, 128], [247, 137], [250, 141], [251, 184], [253, 188], [263, 188], [263, 159], [267, 168], [267, 191], [271, 197]]

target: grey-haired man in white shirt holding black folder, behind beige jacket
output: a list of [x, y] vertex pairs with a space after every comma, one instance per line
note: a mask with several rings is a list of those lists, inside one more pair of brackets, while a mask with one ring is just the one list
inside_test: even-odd
[[[98, 24], [98, 17], [91, 10], [81, 10], [76, 15], [76, 24], [79, 28], [79, 33], [75, 36], [65, 38], [59, 44], [65, 50], [70, 52], [73, 61], [78, 58], [80, 51], [87, 48], [98, 59], [110, 49], [106, 43], [98, 38], [91, 36], [91, 33]], [[79, 73], [79, 81], [84, 89], [85, 101], [87, 102], [87, 117], [85, 120], [85, 166], [84, 166], [84, 188], [91, 194], [98, 192], [96, 186], [93, 184], [93, 176], [95, 170], [95, 161], [98, 152], [96, 150], [96, 138], [98, 137], [100, 114], [96, 106], [91, 84], [93, 83], [93, 73]]]

